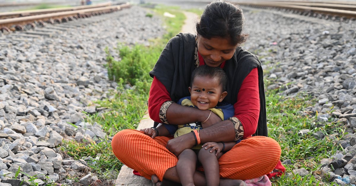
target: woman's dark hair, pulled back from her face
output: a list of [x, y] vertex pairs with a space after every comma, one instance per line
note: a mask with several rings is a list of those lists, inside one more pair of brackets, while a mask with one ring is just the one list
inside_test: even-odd
[[232, 45], [238, 45], [245, 42], [248, 36], [242, 33], [244, 21], [239, 6], [223, 0], [213, 1], [205, 7], [197, 23], [197, 33], [207, 39], [229, 38]]

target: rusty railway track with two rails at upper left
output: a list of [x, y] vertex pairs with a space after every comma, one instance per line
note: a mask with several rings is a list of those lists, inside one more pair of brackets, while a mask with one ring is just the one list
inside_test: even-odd
[[67, 22], [78, 18], [90, 17], [92, 15], [114, 12], [129, 6], [130, 4], [112, 5], [111, 3], [104, 3], [68, 8], [3, 12], [0, 13], [0, 18], [11, 18], [0, 19], [0, 30], [2, 32], [11, 32], [15, 30], [23, 30], [25, 27], [33, 28], [38, 25], [43, 26], [45, 22], [52, 24], [55, 22]]

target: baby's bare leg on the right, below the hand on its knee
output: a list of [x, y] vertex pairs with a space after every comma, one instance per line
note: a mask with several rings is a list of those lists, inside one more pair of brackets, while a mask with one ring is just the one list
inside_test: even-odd
[[220, 175], [219, 175], [219, 162], [218, 159], [223, 153], [219, 153], [219, 157], [217, 157], [216, 151], [210, 153], [209, 149], [202, 148], [199, 151], [198, 159], [203, 165], [205, 178], [206, 178], [206, 185], [207, 186], [219, 186], [220, 182]]

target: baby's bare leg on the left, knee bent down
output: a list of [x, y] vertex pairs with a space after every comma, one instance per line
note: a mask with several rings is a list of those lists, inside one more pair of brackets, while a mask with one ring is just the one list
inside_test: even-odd
[[[197, 164], [197, 155], [192, 149], [185, 149], [178, 156], [177, 174], [182, 186], [194, 186], [194, 172]], [[219, 171], [219, 170], [218, 170]]]

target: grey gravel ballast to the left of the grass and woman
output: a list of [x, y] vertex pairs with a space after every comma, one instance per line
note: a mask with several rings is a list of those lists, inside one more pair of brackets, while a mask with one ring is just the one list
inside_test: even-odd
[[[36, 175], [38, 185], [46, 176], [55, 182], [73, 184], [66, 175], [80, 176], [88, 185], [98, 176], [88, 172], [95, 157], [74, 161], [63, 157], [57, 145], [63, 139], [100, 141], [108, 136], [97, 123], [83, 122], [85, 114], [102, 112], [93, 102], [108, 98], [116, 83], [108, 80], [105, 47], [119, 59], [118, 43], [148, 45], [148, 40], [164, 34], [156, 16], [133, 6], [111, 14], [78, 19], [66, 24], [69, 29], [52, 37], [29, 38], [14, 33], [0, 37], [10, 47], [0, 50], [0, 179], [28, 180]], [[104, 18], [100, 18], [104, 17]], [[73, 27], [85, 20], [101, 19], [86, 26]], [[22, 32], [18, 32], [22, 33]], [[16, 40], [14, 39], [16, 38]], [[75, 126], [73, 126], [75, 125]], [[110, 139], [110, 137], [109, 137]], [[1, 176], [6, 175], [6, 176]], [[113, 176], [113, 179], [116, 177]]]

